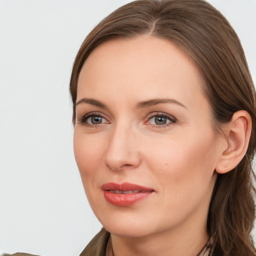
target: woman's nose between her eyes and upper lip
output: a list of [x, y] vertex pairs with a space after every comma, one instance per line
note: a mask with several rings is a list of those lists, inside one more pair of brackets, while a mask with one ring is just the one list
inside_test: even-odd
[[104, 162], [111, 170], [133, 169], [140, 164], [138, 134], [131, 127], [118, 125], [109, 136]]

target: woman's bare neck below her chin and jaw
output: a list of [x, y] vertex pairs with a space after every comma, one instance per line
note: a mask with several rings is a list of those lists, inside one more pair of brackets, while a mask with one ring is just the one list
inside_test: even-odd
[[111, 234], [113, 256], [196, 256], [208, 239], [204, 225], [196, 230], [179, 226], [178, 230], [166, 230], [143, 237]]

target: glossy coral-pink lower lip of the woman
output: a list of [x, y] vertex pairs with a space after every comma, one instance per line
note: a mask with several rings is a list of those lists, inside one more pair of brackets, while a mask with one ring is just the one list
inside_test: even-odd
[[145, 199], [153, 191], [145, 191], [138, 193], [129, 193], [129, 194], [117, 194], [111, 193], [109, 190], [103, 190], [105, 199], [115, 205], [115, 206], [130, 206], [135, 202]]

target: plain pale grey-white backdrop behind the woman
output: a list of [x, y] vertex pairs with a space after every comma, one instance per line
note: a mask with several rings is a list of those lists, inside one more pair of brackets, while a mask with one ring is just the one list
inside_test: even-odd
[[[129, 0], [0, 0], [0, 252], [78, 255], [101, 225], [72, 149], [68, 82], [86, 34]], [[256, 81], [256, 0], [210, 0]]]

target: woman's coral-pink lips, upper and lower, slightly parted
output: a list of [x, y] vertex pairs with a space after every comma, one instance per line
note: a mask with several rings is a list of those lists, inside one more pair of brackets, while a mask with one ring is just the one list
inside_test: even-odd
[[130, 206], [145, 199], [154, 190], [152, 188], [124, 182], [122, 184], [105, 183], [101, 186], [105, 199], [115, 206]]

